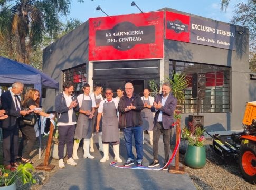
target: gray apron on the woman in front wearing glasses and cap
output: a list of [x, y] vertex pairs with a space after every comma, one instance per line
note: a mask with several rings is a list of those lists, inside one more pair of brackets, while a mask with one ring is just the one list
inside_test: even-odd
[[117, 108], [114, 102], [104, 102], [102, 119], [102, 142], [117, 142], [119, 140], [119, 128]]

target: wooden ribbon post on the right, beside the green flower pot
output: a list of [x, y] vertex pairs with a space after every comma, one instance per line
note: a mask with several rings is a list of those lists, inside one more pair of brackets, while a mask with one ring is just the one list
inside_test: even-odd
[[[177, 119], [176, 124], [176, 144], [178, 143], [179, 139], [181, 138], [181, 119]], [[185, 169], [184, 166], [179, 166], [179, 151], [175, 155], [175, 166], [170, 166], [169, 173], [173, 174], [184, 174]]]

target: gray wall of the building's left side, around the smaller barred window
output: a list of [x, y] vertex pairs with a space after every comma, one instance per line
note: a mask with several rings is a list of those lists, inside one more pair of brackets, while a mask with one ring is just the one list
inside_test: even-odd
[[[63, 84], [63, 70], [88, 63], [88, 21], [81, 24], [43, 50], [43, 72]], [[88, 70], [88, 65], [87, 65]], [[87, 79], [88, 80], [88, 79]], [[55, 90], [47, 89], [42, 105], [46, 111], [54, 109]]]

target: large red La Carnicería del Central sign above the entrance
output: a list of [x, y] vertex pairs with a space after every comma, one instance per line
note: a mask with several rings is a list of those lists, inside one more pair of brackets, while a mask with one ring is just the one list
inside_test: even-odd
[[89, 19], [89, 60], [163, 58], [164, 11]]

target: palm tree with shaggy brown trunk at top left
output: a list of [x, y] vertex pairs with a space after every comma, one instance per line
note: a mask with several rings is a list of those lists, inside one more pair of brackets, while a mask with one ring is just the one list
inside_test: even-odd
[[58, 14], [69, 13], [70, 0], [0, 0], [0, 6], [0, 45], [7, 43], [17, 61], [29, 63], [29, 53], [41, 44], [43, 35], [58, 35]]

